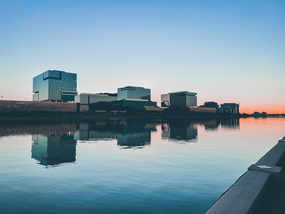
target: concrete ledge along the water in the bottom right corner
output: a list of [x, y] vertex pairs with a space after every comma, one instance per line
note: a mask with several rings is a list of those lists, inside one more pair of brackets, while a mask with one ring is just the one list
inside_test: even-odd
[[[285, 136], [260, 160], [248, 167], [237, 181], [229, 187], [204, 214], [231, 213], [250, 214], [254, 211], [262, 193], [270, 181], [280, 182], [282, 168], [277, 165], [285, 156]], [[260, 168], [268, 166], [271, 168]]]

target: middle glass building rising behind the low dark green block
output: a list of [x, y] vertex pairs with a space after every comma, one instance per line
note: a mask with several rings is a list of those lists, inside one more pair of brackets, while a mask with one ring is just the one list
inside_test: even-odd
[[135, 86], [118, 88], [118, 100], [137, 99], [150, 101], [150, 89]]

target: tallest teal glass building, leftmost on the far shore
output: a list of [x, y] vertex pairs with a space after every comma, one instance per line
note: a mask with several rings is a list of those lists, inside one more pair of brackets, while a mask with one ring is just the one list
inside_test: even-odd
[[33, 101], [74, 101], [76, 80], [77, 74], [47, 70], [33, 78]]

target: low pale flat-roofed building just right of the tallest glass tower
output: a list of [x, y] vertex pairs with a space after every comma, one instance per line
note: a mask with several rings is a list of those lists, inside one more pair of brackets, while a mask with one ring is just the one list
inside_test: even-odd
[[87, 94], [81, 93], [74, 98], [74, 102], [79, 103], [80, 112], [89, 111], [89, 104], [96, 102], [111, 102], [117, 100], [117, 96], [109, 96], [107, 94]]

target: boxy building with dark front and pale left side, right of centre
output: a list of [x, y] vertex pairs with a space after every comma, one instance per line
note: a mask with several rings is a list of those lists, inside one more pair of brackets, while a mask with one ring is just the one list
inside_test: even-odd
[[161, 95], [161, 107], [197, 107], [197, 93], [180, 91]]

